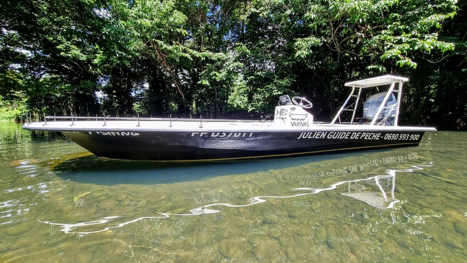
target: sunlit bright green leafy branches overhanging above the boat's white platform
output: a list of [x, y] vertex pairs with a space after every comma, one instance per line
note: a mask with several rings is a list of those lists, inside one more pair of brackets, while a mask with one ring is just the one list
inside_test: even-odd
[[[374, 64], [415, 68], [415, 57], [452, 51], [452, 43], [438, 40], [442, 22], [455, 15], [451, 0], [311, 2], [306, 6], [310, 36], [295, 43], [296, 56], [312, 56], [315, 47], [331, 53], [354, 54], [372, 69]], [[379, 69], [379, 71], [381, 71]]]

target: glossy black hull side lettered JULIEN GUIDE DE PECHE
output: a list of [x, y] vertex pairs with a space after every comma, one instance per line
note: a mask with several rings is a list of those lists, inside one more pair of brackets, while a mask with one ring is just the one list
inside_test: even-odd
[[210, 161], [418, 146], [424, 131], [61, 131], [99, 157]]

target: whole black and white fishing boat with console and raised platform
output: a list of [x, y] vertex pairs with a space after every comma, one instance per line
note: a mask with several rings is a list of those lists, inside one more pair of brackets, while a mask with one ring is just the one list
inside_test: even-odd
[[[279, 97], [272, 120], [44, 116], [22, 128], [56, 131], [105, 158], [164, 162], [223, 161], [418, 146], [431, 127], [398, 126], [408, 78], [382, 75], [347, 82], [351, 92], [331, 122], [315, 122], [304, 97]], [[379, 91], [363, 103], [362, 90]], [[376, 88], [374, 88], [376, 89]]]

